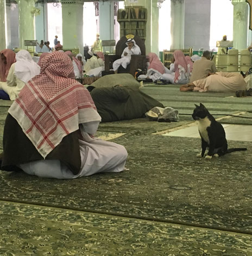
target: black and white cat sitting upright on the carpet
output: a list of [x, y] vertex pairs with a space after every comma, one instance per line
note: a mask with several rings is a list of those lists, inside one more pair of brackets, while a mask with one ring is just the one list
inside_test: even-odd
[[[200, 103], [199, 106], [195, 104], [195, 106], [192, 118], [198, 121], [201, 137], [201, 153], [197, 154], [198, 157], [205, 156], [206, 159], [211, 159], [213, 156], [218, 157], [234, 151], [247, 150], [247, 148], [228, 149], [223, 126], [215, 120], [203, 104]], [[205, 154], [206, 148], [209, 148], [207, 154]]]

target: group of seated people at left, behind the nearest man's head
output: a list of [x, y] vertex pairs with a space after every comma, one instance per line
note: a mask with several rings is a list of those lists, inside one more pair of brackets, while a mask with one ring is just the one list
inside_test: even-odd
[[[59, 52], [62, 51], [62, 47], [59, 47]], [[17, 53], [10, 49], [5, 49], [0, 52], [1, 59], [1, 77], [0, 77], [0, 99], [3, 100], [15, 100], [24, 84], [40, 73], [41, 60], [52, 52], [43, 52], [40, 57], [31, 57], [30, 53], [26, 50], [20, 50]], [[84, 68], [89, 70], [85, 74], [101, 73], [104, 70], [104, 54], [97, 52], [93, 56], [85, 61], [81, 53], [78, 53], [75, 57], [71, 51], [66, 51], [72, 59], [75, 79], [82, 83], [84, 76]], [[101, 75], [101, 74], [100, 74]]]

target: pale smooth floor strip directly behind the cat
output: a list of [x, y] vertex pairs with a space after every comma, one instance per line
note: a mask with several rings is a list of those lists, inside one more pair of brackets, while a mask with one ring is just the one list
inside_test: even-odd
[[[224, 124], [226, 132], [226, 139], [229, 141], [252, 141], [252, 127], [251, 125], [234, 125]], [[193, 137], [199, 138], [197, 124], [178, 129], [177, 131], [167, 132], [164, 136], [178, 136], [178, 137]]]

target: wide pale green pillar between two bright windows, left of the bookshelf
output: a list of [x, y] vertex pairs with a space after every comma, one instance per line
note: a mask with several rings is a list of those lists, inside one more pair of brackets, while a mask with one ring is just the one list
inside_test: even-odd
[[79, 48], [81, 54], [84, 54], [83, 4], [83, 0], [61, 0], [63, 48]]

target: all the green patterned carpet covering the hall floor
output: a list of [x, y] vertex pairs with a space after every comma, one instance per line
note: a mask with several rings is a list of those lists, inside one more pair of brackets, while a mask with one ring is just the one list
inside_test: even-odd
[[[200, 139], [152, 135], [193, 123], [199, 102], [216, 118], [252, 117], [252, 97], [181, 93], [176, 86], [143, 91], [179, 109], [180, 121], [100, 124], [99, 135], [125, 133], [113, 141], [127, 148], [129, 170], [75, 180], [0, 171], [1, 256], [252, 255], [251, 143], [230, 141], [248, 151], [205, 160], [196, 157]], [[9, 105], [0, 101], [0, 140]]]

